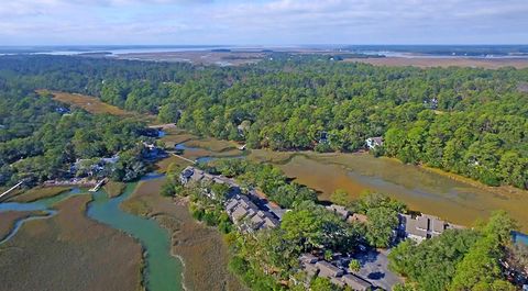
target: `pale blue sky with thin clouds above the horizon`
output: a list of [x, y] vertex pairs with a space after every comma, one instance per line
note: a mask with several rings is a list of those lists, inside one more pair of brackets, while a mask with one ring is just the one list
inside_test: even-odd
[[528, 0], [2, 0], [0, 45], [527, 44]]

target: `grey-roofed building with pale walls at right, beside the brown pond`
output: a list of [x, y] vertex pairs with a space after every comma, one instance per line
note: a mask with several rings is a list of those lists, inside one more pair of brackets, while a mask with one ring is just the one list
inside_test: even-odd
[[421, 214], [411, 216], [408, 214], [399, 214], [400, 235], [418, 243], [441, 235], [448, 228], [461, 227], [462, 226], [450, 224], [433, 215]]

